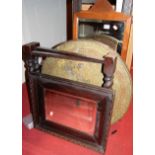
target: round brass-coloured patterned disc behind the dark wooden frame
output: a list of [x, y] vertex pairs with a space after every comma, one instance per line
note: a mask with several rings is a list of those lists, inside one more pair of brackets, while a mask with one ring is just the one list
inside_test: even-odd
[[[55, 48], [97, 59], [103, 59], [103, 56], [109, 53], [117, 56], [116, 71], [112, 86], [115, 92], [115, 99], [111, 124], [120, 120], [129, 107], [132, 95], [130, 73], [121, 57], [106, 44], [92, 39], [68, 41], [59, 44]], [[42, 73], [101, 86], [103, 84], [101, 67], [101, 64], [97, 63], [48, 57], [43, 61]]]

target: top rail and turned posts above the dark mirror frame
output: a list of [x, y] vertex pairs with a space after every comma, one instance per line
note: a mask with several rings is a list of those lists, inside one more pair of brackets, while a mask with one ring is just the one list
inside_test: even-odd
[[103, 60], [82, 56], [75, 53], [65, 51], [56, 51], [54, 49], [47, 49], [39, 47], [39, 43], [29, 43], [23, 45], [23, 60], [25, 62], [26, 72], [40, 73], [41, 65], [39, 64], [39, 57], [56, 57], [63, 59], [88, 61], [94, 63], [101, 63], [103, 65], [104, 83], [103, 87], [110, 88], [112, 86], [113, 74], [116, 68], [116, 56], [104, 56]]

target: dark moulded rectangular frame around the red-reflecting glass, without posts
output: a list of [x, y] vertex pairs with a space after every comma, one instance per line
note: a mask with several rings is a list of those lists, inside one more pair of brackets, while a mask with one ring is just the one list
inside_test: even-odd
[[[31, 89], [34, 91], [31, 95], [33, 95], [33, 119], [36, 128], [62, 135], [66, 139], [97, 151], [105, 151], [113, 106], [112, 90], [37, 73], [31, 73], [30, 78], [33, 81]], [[46, 88], [96, 100], [97, 119], [94, 135], [46, 120], [44, 109], [44, 89]]]

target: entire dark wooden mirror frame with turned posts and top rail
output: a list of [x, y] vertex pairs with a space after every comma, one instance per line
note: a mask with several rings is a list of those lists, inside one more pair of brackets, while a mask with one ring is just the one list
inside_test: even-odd
[[[58, 52], [53, 49], [45, 49], [39, 46], [39, 43], [33, 42], [23, 45], [22, 47], [22, 58], [26, 67], [26, 83], [34, 126], [99, 152], [105, 152], [114, 99], [111, 86], [116, 67], [116, 57], [106, 56], [103, 60], [99, 60], [64, 51]], [[39, 59], [44, 59], [49, 56], [103, 64], [103, 87], [42, 74]], [[65, 92], [97, 101], [97, 119], [94, 135], [90, 136], [86, 133], [45, 120], [45, 89]]]

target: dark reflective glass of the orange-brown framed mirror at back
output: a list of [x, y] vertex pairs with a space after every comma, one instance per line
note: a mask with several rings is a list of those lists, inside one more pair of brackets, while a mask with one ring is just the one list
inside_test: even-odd
[[[109, 39], [117, 43], [117, 52], [121, 54], [124, 36], [124, 22], [95, 19], [79, 19], [78, 38], [93, 38], [103, 43]], [[109, 37], [106, 37], [109, 36]], [[105, 42], [105, 37], [107, 41]]]

